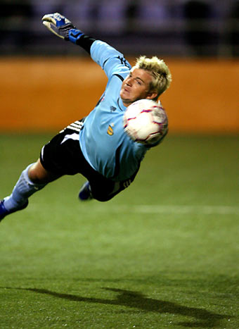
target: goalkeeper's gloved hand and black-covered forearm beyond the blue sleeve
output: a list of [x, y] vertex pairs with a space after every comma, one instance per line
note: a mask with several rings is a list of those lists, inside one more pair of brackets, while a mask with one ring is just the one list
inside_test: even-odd
[[51, 32], [65, 39], [65, 41], [73, 42], [82, 46], [89, 54], [91, 45], [96, 39], [85, 35], [84, 32], [78, 30], [70, 20], [65, 18], [60, 13], [49, 13], [41, 18], [43, 25], [45, 25]]

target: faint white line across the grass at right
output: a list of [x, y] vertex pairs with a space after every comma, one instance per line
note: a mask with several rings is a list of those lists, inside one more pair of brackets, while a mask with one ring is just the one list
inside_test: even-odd
[[[114, 211], [117, 213], [192, 213], [200, 215], [238, 215], [239, 207], [237, 206], [160, 206], [160, 205], [134, 205], [134, 206], [97, 206], [97, 211]], [[96, 209], [94, 207], [94, 209]]]

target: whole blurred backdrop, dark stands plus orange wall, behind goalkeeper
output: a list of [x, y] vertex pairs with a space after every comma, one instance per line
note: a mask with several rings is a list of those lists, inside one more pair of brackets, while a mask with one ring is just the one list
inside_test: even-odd
[[101, 68], [41, 24], [56, 11], [132, 64], [143, 54], [164, 58], [172, 132], [239, 132], [236, 0], [1, 0], [1, 131], [62, 128], [103, 92]]

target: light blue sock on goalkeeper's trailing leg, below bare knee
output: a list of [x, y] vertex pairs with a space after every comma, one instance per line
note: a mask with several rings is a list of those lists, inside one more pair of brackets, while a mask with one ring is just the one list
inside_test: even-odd
[[46, 184], [34, 184], [34, 182], [28, 177], [28, 170], [32, 164], [22, 171], [18, 182], [13, 188], [12, 194], [9, 197], [4, 198], [4, 206], [6, 210], [11, 211], [20, 208], [23, 204], [27, 203], [28, 198], [32, 194], [46, 186]]

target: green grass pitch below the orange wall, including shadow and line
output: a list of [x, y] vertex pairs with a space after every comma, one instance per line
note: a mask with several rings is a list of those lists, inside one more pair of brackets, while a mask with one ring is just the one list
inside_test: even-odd
[[[0, 136], [0, 198], [50, 135]], [[80, 175], [0, 224], [0, 328], [239, 328], [238, 136], [169, 135], [134, 184]]]

